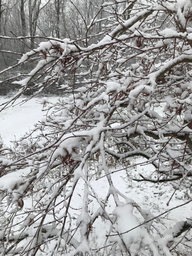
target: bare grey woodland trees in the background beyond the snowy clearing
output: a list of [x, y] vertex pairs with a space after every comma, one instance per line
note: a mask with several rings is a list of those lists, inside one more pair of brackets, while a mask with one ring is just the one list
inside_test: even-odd
[[[24, 53], [34, 49], [40, 42], [33, 36], [52, 36], [57, 38], [78, 39], [87, 36], [87, 26], [98, 12], [98, 19], [105, 18], [105, 12], [99, 12], [103, 0], [0, 0], [0, 35], [29, 37], [16, 41], [0, 38], [0, 66], [9, 67], [17, 59], [12, 52]], [[107, 15], [108, 16], [108, 15]], [[97, 24], [101, 28], [103, 22]], [[94, 35], [97, 26], [89, 30]], [[99, 38], [98, 38], [99, 39]], [[42, 41], [42, 39], [41, 39]], [[87, 43], [87, 41], [86, 41]], [[4, 52], [5, 51], [5, 52]]]

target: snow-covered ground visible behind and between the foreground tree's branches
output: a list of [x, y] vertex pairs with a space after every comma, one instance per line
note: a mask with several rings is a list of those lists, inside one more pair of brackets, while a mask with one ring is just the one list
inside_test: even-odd
[[[22, 100], [23, 99], [20, 98], [20, 100], [15, 103], [18, 104], [19, 102], [22, 102]], [[55, 102], [56, 99], [52, 97], [46, 99], [46, 101]], [[1, 102], [4, 102], [4, 98], [0, 99], [0, 103]], [[35, 126], [33, 125], [36, 123], [36, 121], [41, 121], [42, 118], [45, 118], [46, 115], [49, 114], [47, 113], [47, 111], [41, 111], [42, 106], [39, 104], [40, 102], [42, 102], [41, 99], [33, 98], [23, 104], [18, 104], [14, 107], [5, 109], [4, 112], [1, 112], [0, 135], [4, 142], [4, 146], [13, 147], [14, 143], [10, 142], [10, 140], [19, 140], [20, 136], [25, 135], [25, 132], [27, 130], [33, 130], [35, 128]], [[157, 112], [159, 113], [159, 115], [163, 115], [162, 107], [159, 107]], [[114, 192], [118, 190], [117, 194], [120, 201], [126, 203], [122, 203], [122, 206], [116, 206], [116, 203], [114, 202], [112, 196], [109, 196], [107, 202], [104, 203], [106, 201], [106, 198], [108, 197], [109, 185], [107, 177], [102, 177], [103, 173], [101, 172], [100, 175], [97, 174], [96, 178], [91, 179], [89, 183], [89, 188], [91, 188], [90, 195], [92, 195], [92, 199], [88, 199], [88, 202], [86, 202], [86, 206], [88, 208], [87, 212], [89, 213], [88, 215], [87, 212], [82, 211], [82, 207], [86, 207], [84, 203], [82, 203], [85, 202], [82, 199], [85, 196], [84, 190], [86, 187], [86, 183], [84, 183], [83, 179], [78, 180], [76, 187], [74, 188], [72, 197], [70, 199], [70, 207], [68, 208], [68, 215], [70, 216], [70, 218], [67, 217], [66, 219], [66, 222], [68, 223], [66, 226], [68, 227], [68, 230], [73, 230], [73, 232], [71, 233], [73, 235], [62, 236], [61, 246], [58, 252], [62, 252], [61, 247], [65, 248], [63, 250], [67, 253], [67, 255], [74, 255], [77, 250], [84, 252], [89, 251], [89, 247], [86, 241], [83, 241], [79, 244], [79, 239], [82, 236], [82, 231], [78, 231], [77, 228], [78, 225], [80, 226], [82, 225], [82, 223], [84, 223], [85, 219], [86, 221], [87, 219], [90, 219], [91, 222], [91, 218], [93, 220], [95, 218], [94, 216], [97, 216], [98, 211], [102, 211], [102, 204], [105, 204], [105, 210], [109, 214], [109, 220], [107, 220], [105, 212], [105, 214], [103, 213], [105, 215], [103, 215], [103, 218], [101, 214], [101, 216], [97, 217], [97, 220], [94, 221], [94, 225], [90, 224], [92, 240], [90, 241], [89, 246], [93, 248], [93, 252], [95, 252], [94, 255], [97, 255], [98, 252], [104, 254], [105, 251], [109, 248], [109, 251], [111, 250], [111, 255], [113, 255], [113, 251], [121, 252], [121, 249], [124, 248], [124, 244], [122, 243], [119, 236], [106, 237], [106, 235], [111, 234], [111, 231], [109, 230], [112, 228], [112, 226], [114, 230], [119, 233], [124, 233], [132, 229], [130, 232], [122, 234], [123, 241], [129, 245], [131, 255], [135, 255], [138, 252], [141, 244], [151, 244], [150, 246], [155, 248], [155, 244], [153, 245], [154, 240], [151, 239], [148, 233], [150, 225], [152, 225], [153, 227], [151, 228], [150, 233], [158, 238], [157, 240], [159, 250], [161, 250], [161, 246], [162, 248], [164, 248], [164, 245], [167, 246], [167, 244], [169, 245], [169, 243], [171, 243], [169, 246], [171, 247], [172, 242], [170, 241], [172, 241], [173, 239], [172, 233], [176, 230], [174, 225], [178, 221], [186, 221], [191, 216], [192, 207], [190, 204], [183, 205], [163, 214], [159, 217], [159, 219], [157, 219], [158, 221], [156, 221], [156, 219], [151, 220], [149, 222], [149, 226], [147, 226], [148, 224], [145, 224], [145, 226], [140, 226], [140, 224], [142, 224], [144, 220], [147, 221], [153, 219], [154, 216], [158, 216], [161, 213], [176, 207], [177, 205], [185, 203], [188, 199], [186, 199], [186, 188], [180, 187], [179, 189], [177, 189], [174, 196], [172, 197], [172, 200], [169, 203], [169, 207], [167, 207], [166, 203], [168, 202], [170, 196], [172, 195], [172, 192], [176, 188], [174, 187], [174, 182], [153, 184], [149, 182], [137, 182], [135, 180], [132, 180], [132, 178], [140, 177], [139, 173], [141, 173], [143, 176], [150, 176], [155, 171], [155, 168], [152, 164], [142, 164], [143, 162], [144, 159], [142, 157], [136, 157], [133, 158], [132, 161], [130, 161], [129, 164], [130, 166], [132, 165], [130, 168], [121, 170], [122, 166], [117, 163], [116, 167], [113, 166], [110, 169], [110, 172], [112, 173], [111, 179], [114, 185]], [[85, 168], [89, 168], [94, 177], [94, 173], [97, 171], [98, 166], [99, 165], [95, 164], [95, 161], [91, 160], [89, 162], [89, 166], [85, 166]], [[36, 197], [33, 197], [32, 194], [28, 193], [28, 196], [23, 201], [22, 199], [19, 199], [16, 193], [22, 194], [23, 191], [26, 189], [26, 180], [25, 185], [22, 184], [24, 181], [23, 177], [26, 177], [28, 175], [30, 180], [30, 167], [26, 168], [24, 171], [17, 170], [8, 173], [4, 175], [0, 180], [0, 191], [7, 190], [9, 193], [11, 193], [11, 190], [13, 190], [14, 188], [14, 193], [12, 193], [12, 196], [15, 196], [15, 198], [17, 198], [16, 201], [19, 205], [18, 212], [18, 208], [15, 208], [13, 200], [13, 203], [9, 206], [9, 211], [3, 212], [3, 215], [1, 216], [1, 221], [3, 223], [4, 221], [6, 222], [6, 218], [10, 213], [16, 214], [16, 220], [20, 222], [19, 231], [23, 230], [25, 234], [26, 226], [30, 227], [26, 232], [26, 237], [29, 236], [29, 234], [35, 234], [37, 232], [38, 226], [41, 225], [40, 223], [38, 223], [38, 214], [36, 214], [34, 205], [38, 203], [46, 206], [46, 204], [48, 204], [49, 199], [54, 196], [52, 193], [56, 193], [54, 191], [54, 182], [58, 180], [58, 178], [62, 178], [62, 176], [64, 176], [64, 173], [58, 172], [56, 168], [55, 171], [53, 169], [52, 172], [46, 176], [46, 178], [43, 178], [43, 180], [40, 180], [38, 183], [36, 183], [36, 191], [39, 190], [39, 192], [36, 193]], [[70, 191], [72, 186], [73, 182], [71, 181], [71, 183], [67, 184], [65, 193], [67, 191]], [[17, 190], [15, 190], [16, 187], [18, 188]], [[43, 192], [44, 190], [46, 190], [47, 193], [41, 198], [41, 195], [43, 195], [42, 190]], [[87, 191], [87, 193], [90, 192]], [[52, 229], [50, 229], [50, 223], [52, 223], [54, 218], [61, 219], [62, 216], [64, 217], [66, 215], [66, 202], [63, 202], [64, 197], [65, 194], [62, 195], [62, 193], [60, 196], [57, 197], [57, 199], [55, 200], [55, 206], [52, 208], [52, 211], [54, 211], [54, 215], [46, 215], [46, 218], [44, 220], [45, 224], [42, 226], [42, 233], [44, 234], [43, 239], [47, 237], [47, 239], [49, 240], [48, 244], [46, 244], [46, 246], [49, 247], [49, 250], [50, 248], [55, 246], [49, 235], [52, 234], [53, 237], [60, 237], [59, 234], [60, 229], [62, 229], [62, 222], [58, 223], [57, 226], [54, 227], [54, 232]], [[39, 198], [41, 199], [39, 200]], [[5, 197], [5, 201], [6, 200], [7, 198]], [[2, 201], [2, 203], [4, 203], [4, 201]], [[62, 204], [65, 207], [62, 207]], [[35, 212], [33, 212], [33, 209]], [[140, 209], [142, 209], [142, 211], [140, 211]], [[7, 212], [9, 212], [9, 214], [7, 214]], [[111, 226], [110, 219], [114, 220], [114, 218], [116, 218], [116, 224]], [[23, 219], [25, 219], [24, 222]], [[12, 225], [14, 225], [14, 222]], [[170, 228], [173, 229], [170, 230]], [[67, 231], [67, 229], [65, 230]], [[165, 236], [165, 238], [160, 239], [162, 234], [164, 235], [166, 234], [166, 232], [168, 233], [168, 235]], [[187, 231], [187, 233], [190, 234], [190, 231]], [[19, 239], [19, 232], [18, 230], [15, 230], [14, 239], [17, 234]], [[3, 239], [3, 233], [0, 234], [0, 239]], [[174, 238], [173, 240], [175, 243], [182, 242], [181, 238]], [[25, 249], [31, 247], [30, 242], [28, 244], [28, 239], [25, 243], [21, 240], [19, 244], [22, 248], [24, 248], [26, 245]], [[119, 247], [119, 245], [121, 247]], [[39, 252], [40, 254], [38, 255], [46, 255], [46, 246], [44, 247], [44, 250], [42, 252]], [[179, 251], [182, 252], [182, 250], [183, 247], [181, 246], [181, 251]], [[124, 248], [124, 251], [126, 251], [126, 248]], [[189, 250], [187, 250], [187, 252], [189, 252]], [[158, 252], [156, 255], [158, 255]]]

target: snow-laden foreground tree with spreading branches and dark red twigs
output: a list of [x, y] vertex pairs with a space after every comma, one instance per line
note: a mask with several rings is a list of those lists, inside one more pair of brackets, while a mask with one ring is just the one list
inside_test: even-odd
[[[191, 216], [171, 227], [162, 219], [192, 201], [191, 1], [112, 0], [97, 10], [86, 37], [33, 36], [47, 42], [0, 72], [35, 65], [2, 81], [21, 85], [2, 111], [31, 89], [66, 93], [41, 100], [46, 117], [14, 147], [0, 144], [2, 256], [191, 253]], [[135, 176], [141, 164], [149, 172]], [[122, 193], [118, 173], [174, 184], [167, 209]], [[178, 189], [187, 199], [170, 207]]]

